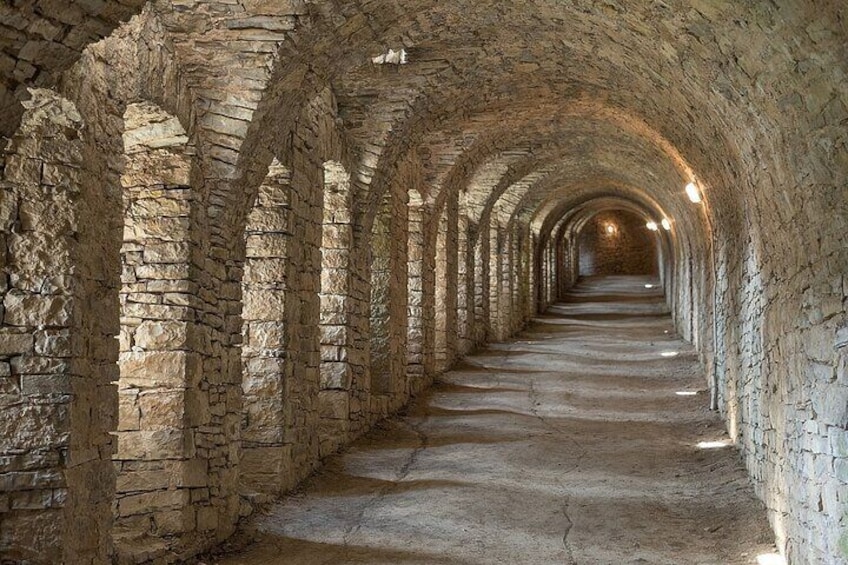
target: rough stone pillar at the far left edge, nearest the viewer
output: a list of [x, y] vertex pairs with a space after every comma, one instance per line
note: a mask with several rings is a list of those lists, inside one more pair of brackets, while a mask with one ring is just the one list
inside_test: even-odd
[[120, 201], [73, 104], [30, 92], [0, 184], [0, 556], [105, 564]]

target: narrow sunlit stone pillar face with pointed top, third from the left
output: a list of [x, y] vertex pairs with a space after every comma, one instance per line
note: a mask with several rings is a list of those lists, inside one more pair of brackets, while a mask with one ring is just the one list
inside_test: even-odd
[[293, 486], [288, 388], [291, 333], [286, 325], [291, 268], [291, 172], [276, 160], [247, 218], [242, 277], [242, 457], [248, 494], [279, 495]]

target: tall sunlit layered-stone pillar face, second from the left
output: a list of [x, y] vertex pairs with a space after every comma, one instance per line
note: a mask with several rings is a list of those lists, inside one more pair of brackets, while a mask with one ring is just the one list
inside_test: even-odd
[[217, 527], [206, 519], [215, 514], [208, 460], [194, 433], [211, 415], [192, 339], [198, 287], [186, 142], [179, 121], [158, 107], [127, 108], [115, 539], [130, 562]]

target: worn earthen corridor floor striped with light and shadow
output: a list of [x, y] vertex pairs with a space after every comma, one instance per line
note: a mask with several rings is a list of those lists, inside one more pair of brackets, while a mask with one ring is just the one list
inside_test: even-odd
[[649, 282], [584, 281], [205, 563], [756, 563], [765, 510]]

